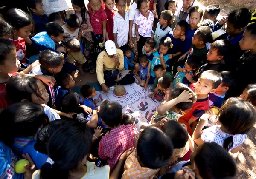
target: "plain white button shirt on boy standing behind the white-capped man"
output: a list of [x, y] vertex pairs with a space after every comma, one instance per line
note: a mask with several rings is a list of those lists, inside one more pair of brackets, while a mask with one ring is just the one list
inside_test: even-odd
[[129, 12], [125, 12], [125, 19], [117, 12], [113, 19], [113, 33], [117, 36], [119, 47], [127, 44], [129, 37]]

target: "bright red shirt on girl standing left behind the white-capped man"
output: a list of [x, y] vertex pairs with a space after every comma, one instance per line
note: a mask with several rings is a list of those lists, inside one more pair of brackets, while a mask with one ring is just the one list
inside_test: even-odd
[[90, 17], [91, 17], [93, 33], [94, 34], [103, 34], [102, 21], [107, 20], [107, 14], [105, 13], [105, 11], [102, 8], [100, 8], [99, 11], [97, 11], [93, 14], [93, 11], [92, 11], [89, 3], [88, 3], [88, 11], [89, 11]]

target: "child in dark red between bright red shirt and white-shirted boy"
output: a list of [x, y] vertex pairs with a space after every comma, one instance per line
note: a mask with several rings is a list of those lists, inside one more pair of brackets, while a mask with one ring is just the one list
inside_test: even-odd
[[114, 11], [114, 6], [115, 6], [115, 1], [114, 0], [103, 0], [105, 3], [105, 8], [104, 11], [107, 14], [107, 24], [106, 24], [106, 40], [112, 40], [114, 41], [113, 37], [113, 19], [115, 16], [115, 11]]

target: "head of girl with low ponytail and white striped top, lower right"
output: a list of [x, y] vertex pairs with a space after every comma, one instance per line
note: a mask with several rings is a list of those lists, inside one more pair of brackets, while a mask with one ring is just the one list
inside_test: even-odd
[[[218, 113], [218, 123], [230, 134], [247, 134], [256, 122], [256, 111], [250, 102], [229, 98]], [[233, 136], [224, 140], [223, 148], [229, 151], [233, 147]]]

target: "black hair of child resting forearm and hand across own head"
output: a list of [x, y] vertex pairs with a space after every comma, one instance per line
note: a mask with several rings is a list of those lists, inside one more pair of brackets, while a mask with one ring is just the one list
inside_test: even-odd
[[[188, 88], [174, 88], [170, 91], [170, 96], [169, 96], [169, 99], [175, 99], [177, 98], [178, 96], [180, 96], [180, 94], [183, 92], [183, 91], [189, 91]], [[192, 98], [189, 98], [190, 100], [194, 101], [195, 97], [192, 97]], [[193, 102], [180, 102], [178, 103], [177, 105], [175, 105], [176, 108], [182, 110], [182, 111], [185, 111], [189, 108], [191, 108], [193, 105]]]

